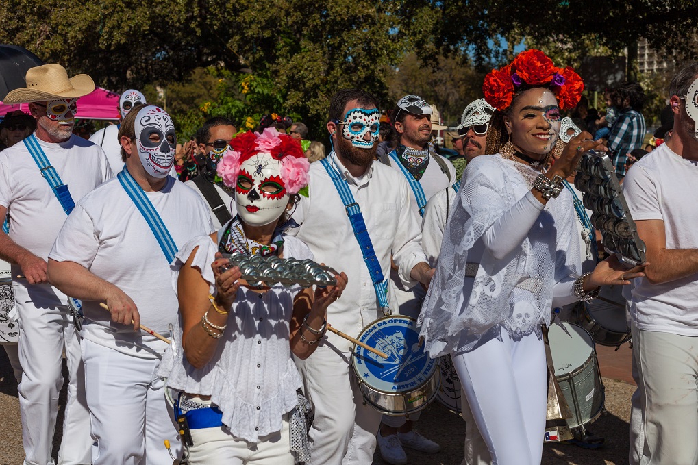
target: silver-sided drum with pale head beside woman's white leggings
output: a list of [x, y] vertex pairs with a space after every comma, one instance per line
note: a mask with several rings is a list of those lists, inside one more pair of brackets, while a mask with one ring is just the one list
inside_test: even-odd
[[604, 385], [591, 334], [574, 323], [554, 323], [548, 330], [555, 378], [572, 411], [570, 429], [584, 431], [604, 407]]

